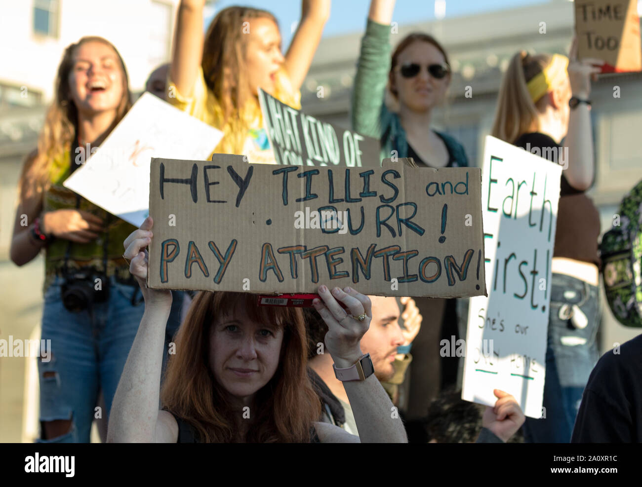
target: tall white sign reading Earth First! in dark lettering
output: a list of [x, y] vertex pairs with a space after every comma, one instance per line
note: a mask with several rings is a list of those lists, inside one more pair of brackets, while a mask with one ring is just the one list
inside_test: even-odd
[[489, 135], [482, 171], [488, 297], [469, 303], [462, 399], [494, 406], [501, 389], [539, 418], [562, 166]]

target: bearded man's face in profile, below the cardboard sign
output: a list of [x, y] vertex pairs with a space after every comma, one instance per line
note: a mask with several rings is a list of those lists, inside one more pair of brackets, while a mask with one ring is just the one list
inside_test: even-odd
[[404, 344], [399, 327], [399, 306], [395, 298], [369, 296], [372, 302], [372, 321], [370, 328], [361, 337], [361, 350], [370, 354], [374, 375], [385, 382], [395, 373], [393, 362], [397, 346]]

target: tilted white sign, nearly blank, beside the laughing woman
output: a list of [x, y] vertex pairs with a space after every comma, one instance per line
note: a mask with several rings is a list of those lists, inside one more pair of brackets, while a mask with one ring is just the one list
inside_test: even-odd
[[64, 186], [134, 226], [148, 216], [150, 158], [207, 158], [223, 132], [143, 93], [100, 148], [76, 150], [82, 164]]

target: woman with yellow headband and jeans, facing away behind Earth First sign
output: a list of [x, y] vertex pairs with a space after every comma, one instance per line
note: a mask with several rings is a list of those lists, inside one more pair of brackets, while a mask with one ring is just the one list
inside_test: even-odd
[[[562, 164], [546, 348], [546, 419], [527, 418], [525, 438], [568, 443], [582, 391], [598, 359], [600, 215], [584, 194], [594, 177], [589, 94], [603, 61], [513, 56], [499, 89], [492, 134]], [[560, 144], [564, 139], [564, 147]]]

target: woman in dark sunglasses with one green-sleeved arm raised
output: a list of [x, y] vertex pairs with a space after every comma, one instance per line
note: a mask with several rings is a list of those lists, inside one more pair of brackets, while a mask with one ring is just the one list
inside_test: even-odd
[[[428, 34], [412, 33], [390, 58], [394, 0], [372, 0], [352, 92], [352, 127], [381, 141], [381, 158], [412, 157], [422, 167], [465, 167], [464, 148], [430, 128], [444, 100], [450, 67], [444, 48]], [[386, 85], [398, 112], [384, 103]]]

